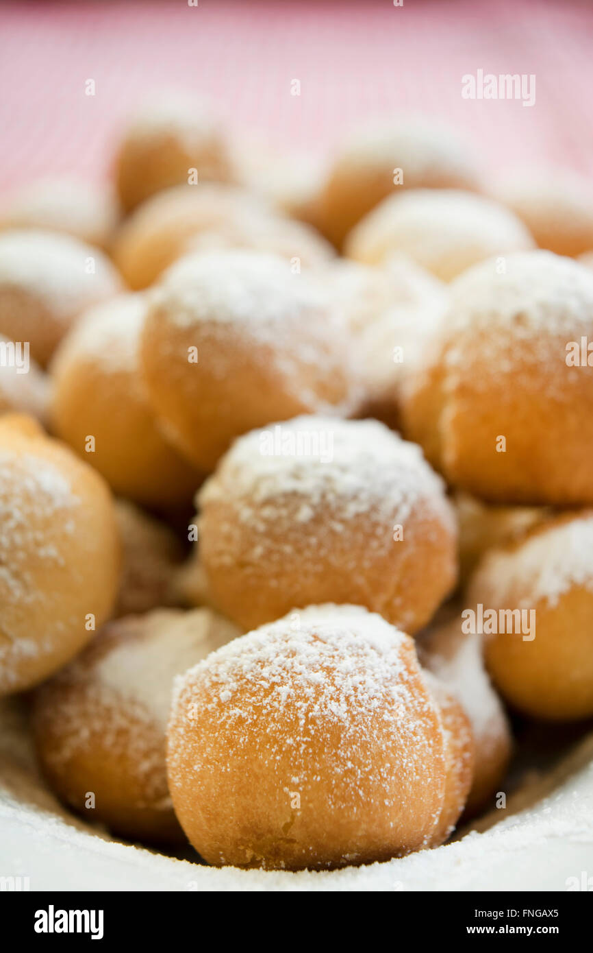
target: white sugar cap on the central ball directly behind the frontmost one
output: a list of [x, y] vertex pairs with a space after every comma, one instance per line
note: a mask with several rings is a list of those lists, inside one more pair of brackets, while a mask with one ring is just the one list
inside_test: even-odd
[[378, 421], [299, 416], [236, 440], [198, 501], [240, 500], [239, 518], [255, 525], [271, 518], [314, 525], [331, 498], [341, 522], [369, 513], [384, 526], [434, 501], [452, 528], [443, 492], [420, 447]]

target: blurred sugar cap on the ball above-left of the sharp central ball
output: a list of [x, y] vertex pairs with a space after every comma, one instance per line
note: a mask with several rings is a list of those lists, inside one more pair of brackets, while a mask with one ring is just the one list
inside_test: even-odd
[[[356, 400], [358, 381], [348, 365], [352, 355], [338, 314], [315, 283], [294, 274], [278, 255], [188, 254], [168, 269], [150, 300], [152, 326], [168, 322], [173, 329], [202, 328], [205, 335], [216, 335], [221, 374], [227, 373], [228, 336], [244, 341], [252, 362], [271, 362], [285, 393], [301, 407], [346, 413]], [[214, 376], [216, 358], [210, 349], [208, 373]], [[314, 373], [304, 374], [309, 368]]]

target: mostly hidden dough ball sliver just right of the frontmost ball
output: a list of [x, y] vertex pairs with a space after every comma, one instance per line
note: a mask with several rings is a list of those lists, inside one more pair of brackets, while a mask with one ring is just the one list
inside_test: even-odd
[[473, 771], [465, 812], [475, 815], [503, 781], [512, 748], [504, 707], [485, 672], [482, 639], [465, 634], [462, 618], [454, 618], [417, 642], [421, 663], [461, 703], [469, 720]]

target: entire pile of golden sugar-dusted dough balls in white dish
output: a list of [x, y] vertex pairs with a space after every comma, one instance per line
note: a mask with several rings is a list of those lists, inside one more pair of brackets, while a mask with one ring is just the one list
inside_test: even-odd
[[89, 822], [384, 861], [593, 716], [593, 187], [481, 169], [179, 101], [2, 198], [0, 694]]

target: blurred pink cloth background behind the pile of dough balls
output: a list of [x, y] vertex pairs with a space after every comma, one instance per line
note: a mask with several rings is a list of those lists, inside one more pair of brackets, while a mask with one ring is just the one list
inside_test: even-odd
[[[462, 99], [478, 69], [535, 73], [535, 106]], [[0, 185], [104, 174], [124, 115], [163, 85], [206, 93], [234, 127], [288, 149], [326, 152], [371, 113], [420, 110], [469, 132], [489, 166], [593, 176], [586, 0], [103, 0], [1, 5]]]

